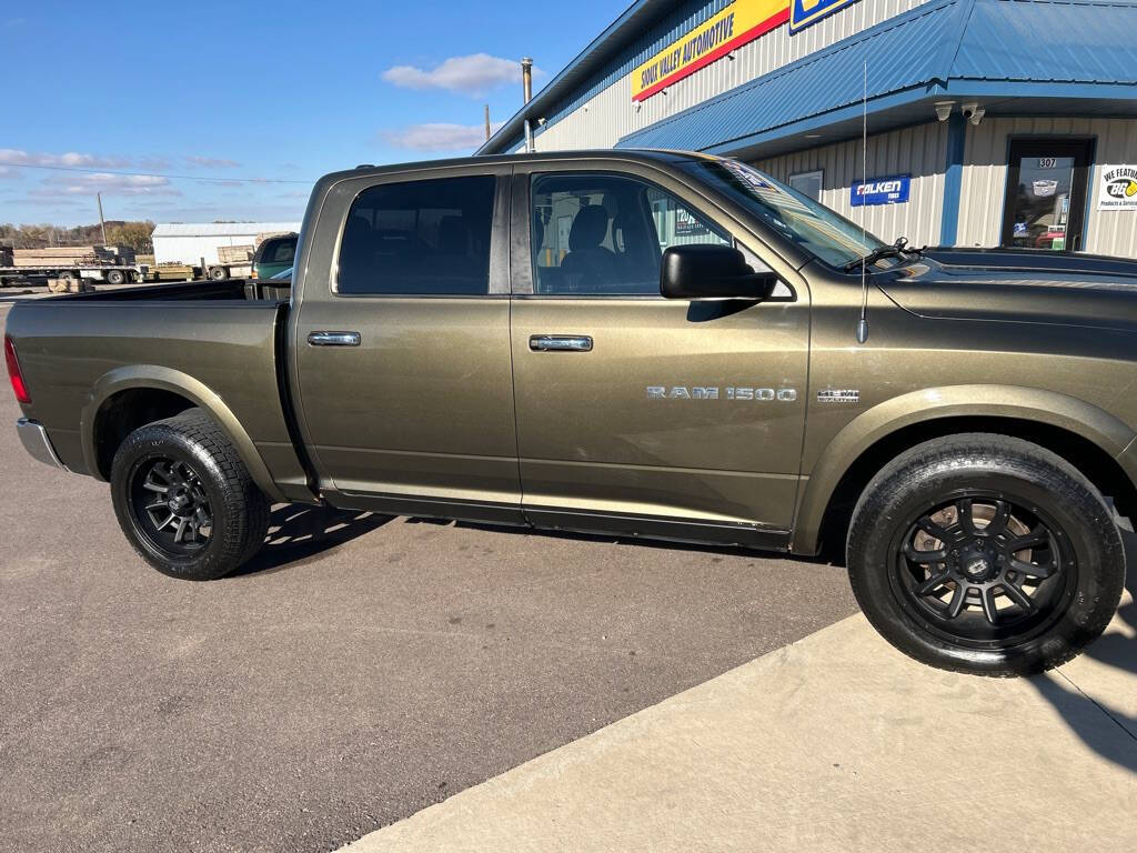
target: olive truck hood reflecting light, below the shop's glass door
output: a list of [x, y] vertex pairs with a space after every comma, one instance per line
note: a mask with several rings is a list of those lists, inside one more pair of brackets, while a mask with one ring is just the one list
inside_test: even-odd
[[922, 317], [1137, 331], [1137, 262], [1013, 250], [929, 250], [873, 276]]

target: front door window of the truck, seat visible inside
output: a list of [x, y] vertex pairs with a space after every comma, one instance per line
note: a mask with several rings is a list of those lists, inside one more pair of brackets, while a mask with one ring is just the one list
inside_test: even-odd
[[536, 291], [599, 296], [659, 293], [663, 252], [727, 243], [706, 217], [657, 187], [621, 175], [537, 175], [532, 187]]

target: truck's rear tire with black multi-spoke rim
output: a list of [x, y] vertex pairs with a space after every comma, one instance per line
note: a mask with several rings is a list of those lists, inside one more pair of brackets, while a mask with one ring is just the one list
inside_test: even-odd
[[268, 530], [267, 498], [199, 408], [127, 436], [110, 494], [131, 545], [173, 578], [223, 578], [260, 549]]

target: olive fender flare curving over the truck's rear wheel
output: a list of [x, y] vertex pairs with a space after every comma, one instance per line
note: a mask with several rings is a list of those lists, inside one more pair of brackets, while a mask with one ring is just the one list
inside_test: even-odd
[[198, 379], [172, 367], [152, 364], [117, 367], [101, 375], [91, 390], [91, 396], [80, 415], [80, 436], [83, 442], [83, 458], [91, 474], [101, 480], [99, 473], [98, 452], [96, 447], [94, 424], [99, 413], [111, 397], [122, 391], [150, 388], [169, 391], [190, 400], [206, 412], [221, 426], [222, 431], [233, 442], [241, 462], [249, 470], [254, 482], [260, 487], [273, 502], [284, 502], [273, 477], [260, 457], [256, 445], [244, 431], [241, 422], [225, 401], [213, 389]]

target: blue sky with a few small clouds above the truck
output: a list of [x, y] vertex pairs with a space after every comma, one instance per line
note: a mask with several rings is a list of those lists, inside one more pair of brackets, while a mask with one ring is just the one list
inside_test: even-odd
[[522, 56], [539, 89], [625, 5], [0, 3], [0, 222], [94, 222], [100, 189], [108, 220], [299, 220], [325, 172], [468, 154]]

